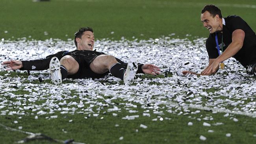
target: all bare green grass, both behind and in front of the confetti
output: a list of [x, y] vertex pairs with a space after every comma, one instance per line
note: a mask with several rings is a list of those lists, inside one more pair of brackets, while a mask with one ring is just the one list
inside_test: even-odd
[[[95, 30], [96, 39], [149, 39], [158, 38], [161, 35], [168, 36], [175, 33], [172, 37], [195, 39], [195, 37], [207, 37], [208, 31], [202, 27], [200, 22], [200, 11], [205, 4], [209, 4], [205, 0], [51, 0], [50, 2], [32, 2], [32, 0], [1, 0], [0, 1], [0, 38], [16, 40], [21, 37], [28, 39], [45, 40], [49, 38], [58, 38], [67, 40], [73, 39], [73, 33], [81, 26], [91, 26]], [[223, 1], [216, 0], [213, 4], [219, 5], [222, 9], [223, 16], [239, 15], [256, 31], [255, 9], [247, 7], [236, 7], [240, 4], [256, 5], [254, 0], [232, 0]], [[229, 5], [226, 5], [229, 4]], [[5, 33], [4, 31], [8, 31]], [[48, 35], [44, 35], [44, 31]], [[111, 31], [115, 33], [111, 34]], [[143, 35], [141, 35], [143, 34]], [[189, 34], [191, 36], [186, 36]], [[65, 36], [67, 35], [67, 36]], [[29, 38], [31, 36], [31, 38]], [[134, 38], [133, 38], [134, 37]], [[4, 76], [7, 72], [0, 72], [0, 76]], [[38, 76], [34, 73], [33, 76]], [[168, 74], [168, 77], [171, 77]], [[10, 72], [8, 76], [11, 78], [20, 77], [25, 79], [22, 83], [25, 84], [50, 84], [50, 79], [28, 81], [28, 74]], [[8, 83], [6, 77], [1, 77], [3, 83]], [[150, 75], [138, 76], [141, 79], [155, 79], [163, 78], [163, 75], [153, 77]], [[106, 83], [106, 85], [114, 85], [117, 82], [113, 81], [99, 81]], [[72, 80], [63, 81], [64, 84], [74, 83]], [[119, 82], [122, 85], [122, 82]], [[151, 85], [161, 85], [158, 82], [151, 82]], [[11, 85], [11, 84], [10, 84]], [[86, 85], [81, 85], [86, 87]], [[26, 96], [31, 92], [22, 90], [23, 87], [15, 87], [9, 92], [16, 95]], [[4, 89], [4, 87], [1, 87]], [[215, 92], [218, 89], [204, 89], [205, 92]], [[35, 92], [35, 91], [33, 91]], [[0, 100], [15, 101], [10, 96], [4, 96], [6, 92], [0, 92]], [[78, 95], [77, 91], [67, 93], [69, 96]], [[98, 92], [98, 95], [103, 95]], [[62, 95], [65, 98], [64, 95]], [[84, 97], [87, 97], [84, 96]], [[152, 96], [157, 99], [156, 96]], [[23, 98], [23, 97], [22, 97]], [[113, 96], [108, 96], [108, 99]], [[220, 97], [225, 99], [225, 97]], [[26, 98], [25, 98], [26, 99]], [[208, 100], [202, 98], [202, 101]], [[69, 102], [79, 102], [76, 97], [73, 99], [66, 99]], [[249, 101], [249, 100], [247, 100]], [[247, 102], [245, 101], [245, 102]], [[35, 102], [40, 105], [46, 100]], [[59, 101], [56, 100], [56, 103]], [[61, 101], [63, 102], [63, 101]], [[104, 102], [104, 100], [97, 100], [97, 102]], [[150, 117], [143, 116], [143, 111], [147, 110], [141, 107], [138, 103], [137, 108], [131, 108], [138, 111], [138, 113], [128, 113], [122, 105], [123, 100], [114, 99], [111, 101], [115, 106], [121, 108], [120, 112], [106, 112], [100, 113], [99, 116], [88, 117], [88, 114], [60, 114], [55, 112], [53, 114], [39, 115], [38, 120], [35, 120], [35, 115], [22, 115], [19, 119], [18, 115], [1, 115], [0, 123], [13, 128], [22, 126], [22, 130], [33, 133], [44, 133], [52, 138], [65, 140], [74, 138], [76, 142], [84, 142], [86, 144], [253, 144], [256, 143], [256, 121], [255, 118], [242, 115], [234, 115], [239, 121], [234, 122], [229, 117], [223, 117], [224, 113], [213, 114], [211, 111], [201, 111], [199, 114], [178, 115], [181, 110], [176, 113], [167, 113], [168, 109], [175, 111], [176, 108], [166, 107], [161, 105], [157, 111], [163, 111], [164, 115], [154, 114], [153, 109], [150, 109]], [[28, 102], [26, 102], [28, 103]], [[85, 108], [89, 104], [85, 104]], [[160, 105], [158, 105], [160, 106]], [[63, 105], [67, 107], [67, 105]], [[227, 106], [229, 107], [229, 106]], [[232, 106], [230, 106], [232, 107]], [[101, 111], [113, 108], [102, 107]], [[17, 107], [4, 107], [0, 111], [17, 111]], [[43, 109], [49, 111], [49, 109]], [[196, 111], [196, 109], [189, 109]], [[82, 110], [81, 110], [82, 111]], [[93, 111], [97, 111], [96, 108]], [[32, 110], [27, 110], [27, 113], [32, 113]], [[117, 113], [117, 116], [112, 116], [112, 113]], [[47, 116], [58, 115], [57, 119], [46, 119]], [[126, 115], [139, 115], [135, 120], [122, 120]], [[85, 119], [84, 117], [87, 117]], [[171, 120], [164, 119], [160, 121], [152, 121], [152, 119], [161, 116], [168, 117]], [[191, 116], [191, 117], [189, 117]], [[205, 116], [213, 116], [214, 120], [202, 120]], [[103, 119], [101, 119], [103, 117]], [[197, 118], [201, 118], [198, 121]], [[69, 120], [73, 120], [69, 122]], [[17, 120], [19, 123], [14, 124]], [[187, 126], [188, 122], [193, 122], [193, 126]], [[203, 122], [214, 124], [216, 122], [223, 122], [221, 126], [202, 126]], [[119, 124], [119, 127], [115, 127]], [[148, 126], [147, 129], [139, 127], [140, 124]], [[63, 133], [62, 129], [67, 131]], [[138, 132], [136, 132], [138, 129]], [[214, 130], [214, 133], [208, 133], [209, 129]], [[231, 137], [226, 137], [226, 133], [231, 133]], [[206, 141], [199, 140], [200, 135], [207, 137]], [[0, 143], [13, 144], [27, 135], [19, 132], [8, 131], [4, 127], [0, 127]], [[119, 140], [119, 137], [124, 137]], [[46, 140], [36, 140], [28, 142], [28, 144], [49, 144]]]

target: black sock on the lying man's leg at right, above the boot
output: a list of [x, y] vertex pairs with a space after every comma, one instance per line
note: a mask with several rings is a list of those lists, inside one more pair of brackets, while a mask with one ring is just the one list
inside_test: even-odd
[[120, 78], [120, 79], [124, 80], [124, 72], [125, 72], [125, 69], [124, 69], [124, 66], [121, 65], [121, 63], [115, 63], [114, 65], [112, 65], [112, 66], [109, 68], [109, 72], [110, 72], [110, 74], [112, 74], [114, 77]]

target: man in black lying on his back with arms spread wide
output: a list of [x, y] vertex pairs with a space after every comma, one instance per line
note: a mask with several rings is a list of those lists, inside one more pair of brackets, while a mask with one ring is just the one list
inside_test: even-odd
[[2, 65], [7, 70], [46, 70], [50, 68], [52, 80], [55, 84], [62, 79], [102, 78], [109, 73], [120, 78], [124, 83], [130, 83], [137, 73], [160, 74], [160, 69], [151, 64], [139, 64], [135, 58], [128, 63], [103, 52], [93, 51], [94, 34], [89, 27], [80, 28], [75, 34], [76, 50], [61, 51], [48, 55], [45, 59], [31, 61], [4, 61]]

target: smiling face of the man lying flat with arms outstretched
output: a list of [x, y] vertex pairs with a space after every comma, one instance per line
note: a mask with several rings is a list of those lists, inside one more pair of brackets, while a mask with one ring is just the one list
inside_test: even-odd
[[94, 35], [91, 31], [83, 32], [81, 39], [76, 38], [77, 50], [93, 50], [94, 46]]

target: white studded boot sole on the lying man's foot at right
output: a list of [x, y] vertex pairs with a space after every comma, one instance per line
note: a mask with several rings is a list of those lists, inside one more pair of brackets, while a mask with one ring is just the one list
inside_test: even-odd
[[124, 83], [129, 84], [134, 80], [136, 72], [138, 70], [138, 63], [134, 57], [128, 61], [126, 71], [124, 73]]

